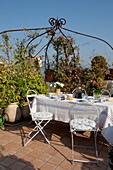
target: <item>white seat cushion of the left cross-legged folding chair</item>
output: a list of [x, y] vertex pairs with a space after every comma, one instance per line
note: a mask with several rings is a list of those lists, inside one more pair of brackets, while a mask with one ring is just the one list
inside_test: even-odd
[[50, 112], [35, 112], [33, 118], [35, 120], [52, 120], [53, 114]]

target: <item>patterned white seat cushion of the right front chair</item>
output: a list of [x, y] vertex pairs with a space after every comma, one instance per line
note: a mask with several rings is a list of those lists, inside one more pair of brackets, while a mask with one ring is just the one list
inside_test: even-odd
[[70, 128], [72, 131], [92, 131], [96, 130], [96, 123], [90, 119], [73, 119], [70, 121]]

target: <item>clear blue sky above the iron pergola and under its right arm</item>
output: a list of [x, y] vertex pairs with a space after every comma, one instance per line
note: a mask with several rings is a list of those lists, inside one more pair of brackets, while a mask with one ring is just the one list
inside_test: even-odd
[[[66, 19], [65, 28], [100, 37], [113, 46], [113, 0], [1, 0], [0, 7], [0, 31], [46, 27], [50, 26], [49, 18], [58, 17]], [[89, 65], [96, 55], [113, 62], [113, 50], [105, 43], [71, 36], [79, 45], [83, 65]]]

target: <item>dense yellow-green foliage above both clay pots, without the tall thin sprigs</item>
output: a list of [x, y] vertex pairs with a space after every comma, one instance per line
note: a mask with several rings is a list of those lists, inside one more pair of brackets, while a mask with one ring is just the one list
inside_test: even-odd
[[38, 94], [48, 92], [40, 70], [35, 67], [33, 59], [5, 66], [1, 70], [0, 107], [4, 109], [13, 102], [22, 106], [26, 101], [26, 92], [29, 89], [35, 90]]

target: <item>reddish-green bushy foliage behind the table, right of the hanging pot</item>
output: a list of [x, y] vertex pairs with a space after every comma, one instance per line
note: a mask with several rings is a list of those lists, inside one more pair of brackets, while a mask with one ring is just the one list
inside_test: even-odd
[[94, 91], [95, 93], [100, 93], [103, 88], [106, 88], [107, 83], [103, 79], [103, 69], [100, 69], [99, 74], [96, 71], [98, 68], [100, 68], [100, 65], [98, 66], [98, 64], [96, 65], [95, 63], [95, 59], [97, 58], [98, 57], [94, 58], [92, 62], [92, 69], [82, 68], [82, 66], [76, 62], [78, 61], [76, 59], [75, 62], [73, 62], [73, 59], [68, 62], [68, 66], [60, 66], [60, 71], [58, 72], [58, 81], [65, 84], [65, 92], [70, 93], [75, 87], [81, 86], [90, 95], [90, 92], [92, 93]]

